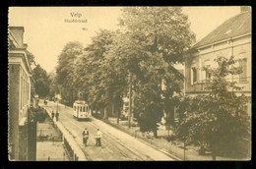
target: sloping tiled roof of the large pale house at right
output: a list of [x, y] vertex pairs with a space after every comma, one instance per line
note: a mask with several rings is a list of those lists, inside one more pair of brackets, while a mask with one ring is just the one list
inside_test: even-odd
[[197, 42], [193, 48], [198, 48], [211, 43], [222, 41], [231, 37], [240, 36], [251, 32], [251, 11], [240, 13], [224, 22], [207, 36]]

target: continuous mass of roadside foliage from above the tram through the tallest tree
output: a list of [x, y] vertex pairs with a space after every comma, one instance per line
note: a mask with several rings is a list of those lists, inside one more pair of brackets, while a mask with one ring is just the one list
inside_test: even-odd
[[169, 113], [173, 106], [167, 105], [174, 104], [173, 96], [181, 92], [184, 77], [174, 66], [183, 62], [195, 34], [179, 7], [123, 8], [119, 25], [117, 31], [96, 32], [83, 53], [72, 49], [80, 49], [80, 44], [68, 43], [59, 56], [57, 82], [80, 90], [97, 108], [120, 107], [132, 84], [134, 114], [144, 117], [139, 119], [141, 130], [157, 134], [163, 109]]

